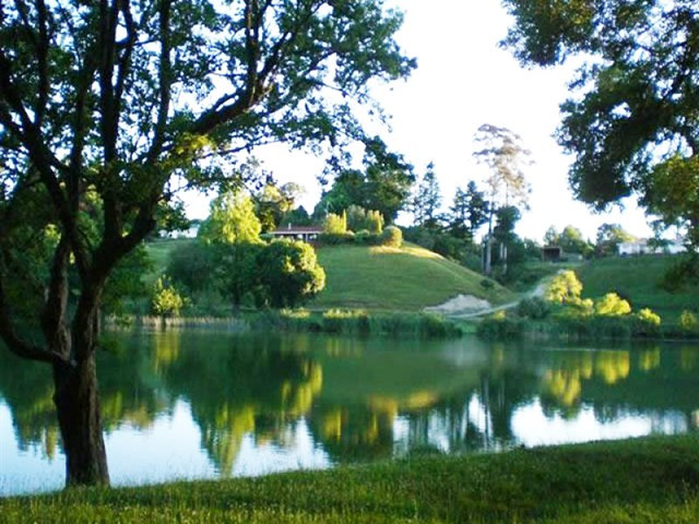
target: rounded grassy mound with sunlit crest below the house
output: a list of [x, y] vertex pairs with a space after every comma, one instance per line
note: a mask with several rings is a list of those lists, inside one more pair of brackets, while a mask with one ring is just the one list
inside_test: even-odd
[[416, 246], [403, 248], [340, 246], [318, 250], [325, 269], [325, 290], [313, 308], [366, 308], [417, 311], [464, 294], [493, 303], [512, 299], [493, 283], [486, 289], [483, 275]]

